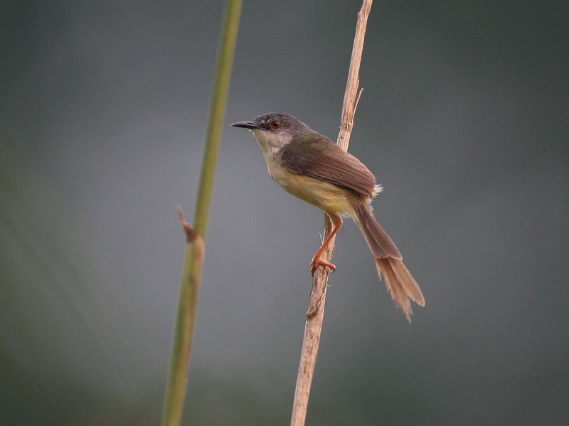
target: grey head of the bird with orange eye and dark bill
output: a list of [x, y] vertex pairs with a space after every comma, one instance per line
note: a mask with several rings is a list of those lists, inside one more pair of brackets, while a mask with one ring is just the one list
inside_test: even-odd
[[231, 124], [252, 131], [263, 151], [276, 151], [292, 138], [312, 131], [306, 124], [292, 115], [270, 112], [256, 116], [253, 121], [238, 121]]

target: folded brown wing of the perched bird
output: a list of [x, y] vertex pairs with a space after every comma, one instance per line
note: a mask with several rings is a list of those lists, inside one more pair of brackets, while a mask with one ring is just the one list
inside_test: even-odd
[[376, 177], [360, 160], [315, 131], [297, 136], [281, 150], [282, 164], [293, 173], [326, 180], [372, 197]]

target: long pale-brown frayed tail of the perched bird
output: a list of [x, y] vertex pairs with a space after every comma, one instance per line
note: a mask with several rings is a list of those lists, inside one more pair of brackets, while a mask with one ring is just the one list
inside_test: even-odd
[[368, 242], [373, 257], [376, 258], [379, 278], [383, 275], [393, 302], [403, 310], [405, 317], [411, 322], [413, 310], [410, 299], [417, 302], [418, 305], [425, 305], [425, 297], [423, 297], [417, 281], [405, 268], [403, 257], [397, 246], [378, 224], [376, 218], [373, 217], [368, 204], [366, 202], [358, 203], [355, 212], [357, 215], [356, 222]]

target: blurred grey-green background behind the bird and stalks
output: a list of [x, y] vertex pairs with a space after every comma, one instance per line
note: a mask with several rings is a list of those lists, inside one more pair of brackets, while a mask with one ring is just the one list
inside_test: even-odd
[[[245, 1], [186, 425], [286, 425], [323, 215], [268, 111], [335, 139], [360, 1]], [[157, 425], [221, 1], [0, 6], [2, 425]], [[350, 151], [427, 305], [340, 231], [309, 425], [566, 425], [569, 6], [376, 1]]]

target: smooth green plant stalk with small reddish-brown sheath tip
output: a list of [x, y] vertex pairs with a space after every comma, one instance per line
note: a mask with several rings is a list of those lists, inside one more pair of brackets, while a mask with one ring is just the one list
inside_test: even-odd
[[162, 426], [179, 426], [184, 412], [188, 364], [190, 361], [193, 329], [196, 323], [203, 251], [222, 126], [225, 119], [225, 106], [229, 92], [241, 4], [242, 0], [228, 0], [225, 3], [220, 45], [216, 60], [216, 76], [213, 81], [212, 100], [206, 131], [206, 148], [203, 152], [200, 185], [194, 215], [195, 227], [192, 229], [189, 224], [184, 222], [181, 216], [181, 222], [188, 237], [188, 246], [186, 248], [184, 274], [181, 280], [178, 315], [176, 318], [168, 384], [166, 386]]

